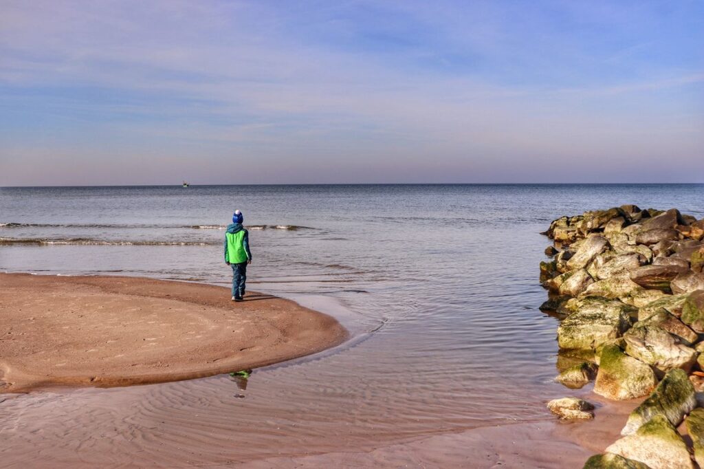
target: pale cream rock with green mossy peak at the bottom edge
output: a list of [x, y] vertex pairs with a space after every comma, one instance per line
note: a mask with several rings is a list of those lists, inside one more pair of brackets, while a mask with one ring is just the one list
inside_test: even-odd
[[693, 469], [686, 444], [662, 415], [617, 440], [606, 452], [640, 461], [652, 469]]

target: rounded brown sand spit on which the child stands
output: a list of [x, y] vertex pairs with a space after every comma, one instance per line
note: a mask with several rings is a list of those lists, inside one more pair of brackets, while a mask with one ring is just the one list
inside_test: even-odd
[[186, 380], [315, 354], [347, 337], [293, 301], [136, 277], [0, 274], [0, 392]]

